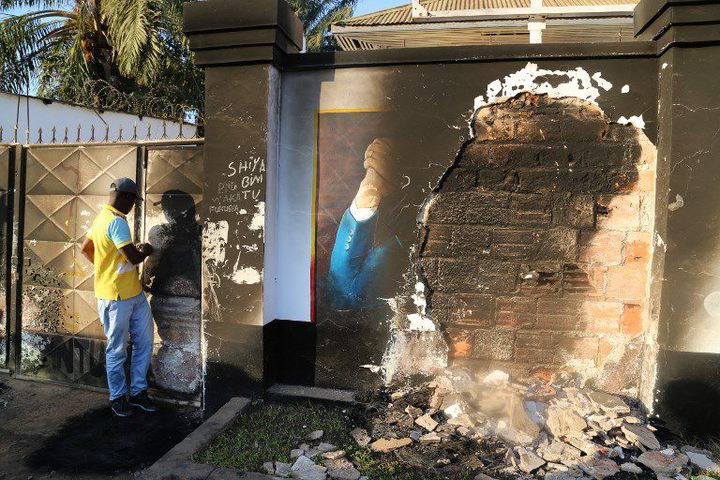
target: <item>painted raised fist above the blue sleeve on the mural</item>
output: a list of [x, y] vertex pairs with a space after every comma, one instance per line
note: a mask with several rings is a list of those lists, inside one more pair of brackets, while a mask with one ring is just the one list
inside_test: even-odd
[[396, 188], [395, 152], [389, 138], [376, 138], [365, 150], [365, 178], [355, 195], [359, 208], [377, 208], [383, 197]]

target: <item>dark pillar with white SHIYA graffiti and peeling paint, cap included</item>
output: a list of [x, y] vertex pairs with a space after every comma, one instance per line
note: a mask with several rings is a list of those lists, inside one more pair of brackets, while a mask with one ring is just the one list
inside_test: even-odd
[[[202, 219], [208, 411], [262, 392], [267, 168], [278, 148], [280, 73], [303, 45], [283, 0], [185, 4], [185, 33], [205, 68]], [[180, 260], [180, 259], [179, 259]]]

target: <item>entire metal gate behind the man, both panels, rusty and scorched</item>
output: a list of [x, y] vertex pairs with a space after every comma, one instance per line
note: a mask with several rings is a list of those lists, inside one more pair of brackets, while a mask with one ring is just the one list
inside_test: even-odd
[[[145, 202], [128, 216], [130, 224], [134, 225], [134, 238], [153, 240], [152, 228], [146, 228], [150, 226], [146, 214], [152, 222], [158, 209], [162, 208], [165, 191], [160, 189], [171, 189], [173, 182], [182, 179], [183, 172], [190, 172], [185, 177], [189, 175], [196, 180], [194, 189], [178, 183], [178, 190], [191, 190], [188, 194], [195, 195], [197, 201], [201, 198], [197, 171], [202, 172], [202, 147], [198, 143], [193, 140], [21, 147], [17, 233], [23, 248], [18, 250], [22, 270], [18, 272], [15, 286], [19, 292], [15, 297], [16, 315], [21, 319], [16, 374], [106, 387], [105, 339], [97, 315], [92, 265], [80, 251], [83, 238], [95, 215], [107, 202], [112, 180], [130, 177], [136, 179], [141, 188], [147, 187]], [[159, 200], [155, 198], [158, 195]], [[195, 200], [195, 197], [191, 198]], [[163, 251], [158, 248], [159, 253]], [[148, 269], [157, 270], [157, 266], [152, 264]], [[148, 272], [144, 276], [153, 278], [155, 275]], [[199, 276], [197, 282], [200, 282]], [[146, 283], [151, 289], [153, 304], [159, 305], [153, 291], [157, 290], [156, 286]], [[163, 293], [169, 296], [167, 292]], [[170, 300], [160, 303], [166, 306]], [[199, 301], [198, 296], [198, 312]], [[168, 308], [153, 305], [153, 311], [163, 313]], [[199, 332], [199, 316], [196, 323]], [[190, 345], [192, 342], [196, 341], [196, 350], [200, 351], [199, 333], [186, 338], [178, 348], [170, 348], [168, 345], [172, 340], [162, 337], [165, 330], [156, 328], [161, 335], [156, 335], [153, 370], [162, 370], [167, 363], [163, 358], [176, 358], [178, 351], [194, 348], [195, 345]], [[192, 361], [197, 362], [199, 369], [199, 353]], [[176, 375], [182, 376], [188, 365], [179, 364], [178, 368]], [[169, 376], [166, 370], [162, 370], [164, 377]], [[162, 382], [154, 382], [158, 383]], [[197, 400], [201, 391], [199, 387], [172, 388], [168, 382], [159, 386], [163, 396], [171, 398]]]

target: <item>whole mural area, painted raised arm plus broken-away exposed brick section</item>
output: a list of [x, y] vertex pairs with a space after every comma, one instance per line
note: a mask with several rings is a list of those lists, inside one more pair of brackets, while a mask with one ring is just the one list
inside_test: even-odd
[[321, 112], [318, 328], [350, 335], [343, 353], [385, 381], [453, 365], [650, 392], [655, 148], [642, 115], [598, 106], [613, 89], [630, 91], [528, 64], [480, 90], [469, 136], [432, 135], [435, 112], [407, 93], [392, 112]]

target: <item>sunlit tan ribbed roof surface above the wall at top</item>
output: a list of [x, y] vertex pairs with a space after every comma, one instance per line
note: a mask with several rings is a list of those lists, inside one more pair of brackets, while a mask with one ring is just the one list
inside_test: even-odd
[[[544, 0], [544, 7], [578, 7], [637, 4], [639, 0]], [[428, 11], [479, 10], [491, 8], [530, 8], [530, 0], [421, 0]], [[338, 25], [376, 26], [412, 23], [412, 4], [352, 17]]]

